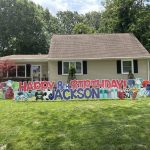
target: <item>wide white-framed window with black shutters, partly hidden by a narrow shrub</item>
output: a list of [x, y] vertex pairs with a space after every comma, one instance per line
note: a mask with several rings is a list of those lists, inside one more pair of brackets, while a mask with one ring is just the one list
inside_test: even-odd
[[63, 74], [68, 74], [69, 73], [69, 67], [71, 65], [75, 66], [76, 69], [76, 74], [82, 74], [82, 62], [63, 62]]

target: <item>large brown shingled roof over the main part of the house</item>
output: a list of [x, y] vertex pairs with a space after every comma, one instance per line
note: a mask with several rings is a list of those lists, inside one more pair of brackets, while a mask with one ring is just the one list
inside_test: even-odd
[[149, 58], [133, 34], [53, 35], [50, 59]]

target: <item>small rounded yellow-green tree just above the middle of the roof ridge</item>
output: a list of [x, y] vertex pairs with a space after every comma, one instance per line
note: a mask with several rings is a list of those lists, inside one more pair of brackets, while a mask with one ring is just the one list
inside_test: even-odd
[[95, 30], [93, 28], [91, 28], [88, 25], [83, 24], [83, 23], [78, 23], [73, 28], [74, 34], [91, 34], [94, 32], [95, 32]]

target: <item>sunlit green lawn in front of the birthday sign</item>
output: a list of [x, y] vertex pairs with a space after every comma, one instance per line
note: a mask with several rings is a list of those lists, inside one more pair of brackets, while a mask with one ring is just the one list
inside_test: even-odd
[[8, 150], [149, 150], [150, 99], [0, 101]]

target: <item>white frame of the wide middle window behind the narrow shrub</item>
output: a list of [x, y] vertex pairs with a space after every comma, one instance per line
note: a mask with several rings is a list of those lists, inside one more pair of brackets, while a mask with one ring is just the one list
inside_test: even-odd
[[83, 75], [83, 61], [78, 61], [78, 60], [73, 60], [73, 61], [62, 61], [62, 75], [68, 75], [68, 73], [64, 73], [64, 62], [69, 63], [69, 67], [71, 63], [75, 63], [75, 68], [76, 68], [76, 62], [81, 63], [81, 73], [76, 73], [75, 75]]

